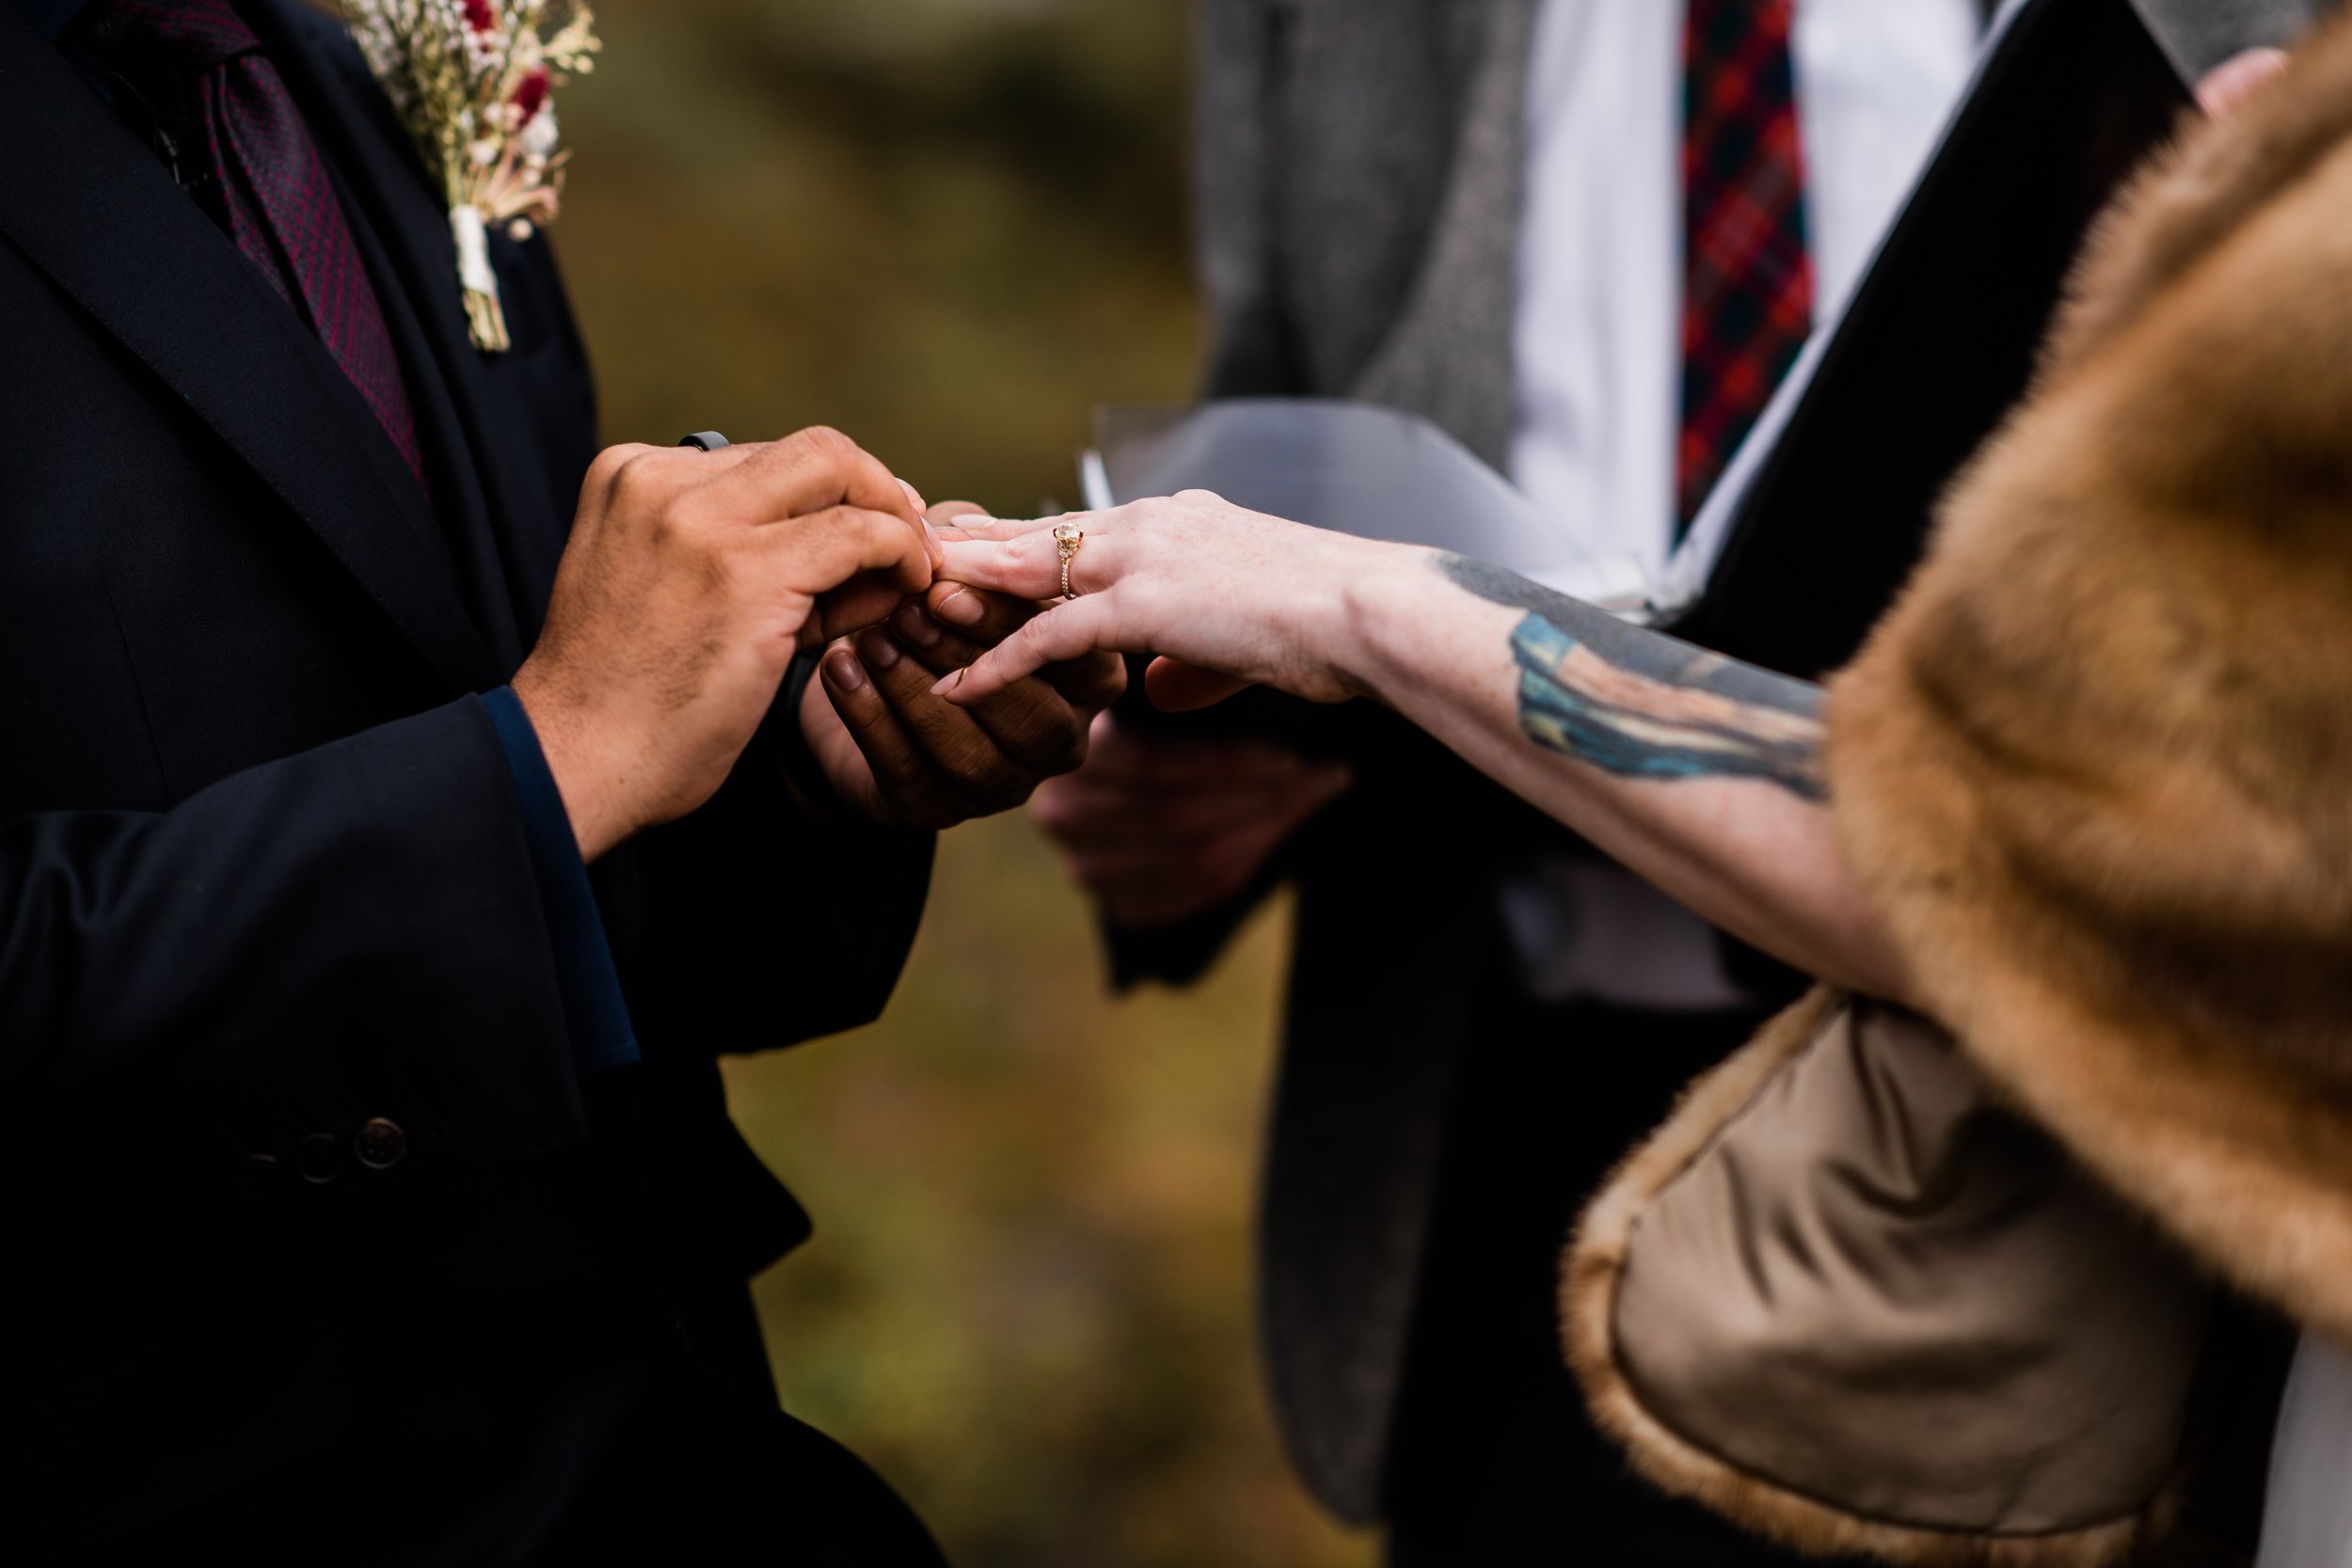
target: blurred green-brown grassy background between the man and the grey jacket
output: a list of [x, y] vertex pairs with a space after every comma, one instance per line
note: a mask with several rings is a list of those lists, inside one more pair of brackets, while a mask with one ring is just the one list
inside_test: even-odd
[[[1190, 388], [1185, 0], [607, 0], [557, 247], [607, 440], [833, 423], [934, 501], [1073, 498]], [[1272, 1436], [1249, 1211], [1282, 922], [1112, 1001], [1025, 816], [941, 844], [889, 1016], [736, 1065], [818, 1220], [783, 1401], [962, 1568], [1357, 1568]]]

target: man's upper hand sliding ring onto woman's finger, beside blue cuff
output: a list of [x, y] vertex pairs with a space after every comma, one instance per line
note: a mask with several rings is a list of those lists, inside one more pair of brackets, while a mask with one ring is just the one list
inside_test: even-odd
[[833, 430], [602, 454], [515, 675], [581, 853], [710, 799], [823, 635], [821, 595], [922, 592], [934, 562], [910, 491]]

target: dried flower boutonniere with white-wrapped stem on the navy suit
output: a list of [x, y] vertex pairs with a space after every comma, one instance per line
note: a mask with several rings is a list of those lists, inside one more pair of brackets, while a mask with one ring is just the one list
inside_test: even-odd
[[595, 66], [595, 16], [579, 0], [343, 0], [343, 12], [442, 181], [473, 346], [506, 353], [489, 228], [529, 240], [555, 221], [572, 155], [553, 94]]

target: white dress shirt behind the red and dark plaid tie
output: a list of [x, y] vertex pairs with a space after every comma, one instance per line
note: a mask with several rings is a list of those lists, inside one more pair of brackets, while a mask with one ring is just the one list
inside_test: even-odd
[[[1675, 0], [1543, 0], [1529, 61], [1510, 473], [1590, 555], [1656, 578], [1682, 433], [1682, 28]], [[1877, 249], [1978, 47], [1976, 0], [1797, 0], [1816, 317]], [[1531, 994], [1738, 1004], [1712, 933], [1606, 865], [1503, 891]]]

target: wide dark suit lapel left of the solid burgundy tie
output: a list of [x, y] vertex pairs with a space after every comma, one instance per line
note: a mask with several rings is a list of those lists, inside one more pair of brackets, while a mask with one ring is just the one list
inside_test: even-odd
[[[503, 679], [416, 480], [341, 367], [12, 5], [0, 240], [278, 491], [452, 691]], [[92, 433], [92, 461], [103, 440]]]

